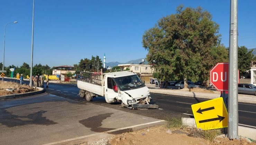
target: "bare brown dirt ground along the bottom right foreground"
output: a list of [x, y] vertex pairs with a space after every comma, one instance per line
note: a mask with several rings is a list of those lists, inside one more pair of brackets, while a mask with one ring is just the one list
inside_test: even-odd
[[186, 131], [171, 130], [172, 134], [167, 134], [167, 129], [163, 126], [150, 127], [116, 135], [108, 143], [110, 145], [256, 145], [246, 139], [230, 141], [228, 138], [216, 138], [210, 142], [200, 137], [190, 137]]

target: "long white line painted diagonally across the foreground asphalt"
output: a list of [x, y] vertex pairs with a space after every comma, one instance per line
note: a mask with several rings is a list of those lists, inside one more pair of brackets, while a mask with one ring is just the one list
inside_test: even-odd
[[[129, 126], [129, 127], [123, 127], [123, 128], [113, 129], [111, 131], [106, 131], [103, 133], [111, 133], [111, 132], [116, 132], [116, 131], [120, 131], [123, 129], [133, 128], [133, 127], [138, 127], [138, 126], [143, 126], [143, 125], [148, 125], [148, 124], [154, 124], [154, 123], [159, 123], [159, 122], [164, 122], [164, 121], [165, 120], [159, 120], [159, 121], [155, 121], [155, 122], [149, 122], [149, 123], [144, 123], [144, 124], [139, 124], [139, 125], [134, 125], [134, 126]], [[75, 137], [75, 138], [70, 138], [70, 139], [64, 139], [62, 141], [57, 141], [57, 142], [48, 143], [48, 144], [44, 144], [44, 145], [62, 144], [65, 142], [74, 141], [74, 140], [82, 139], [82, 138], [87, 138], [87, 137], [91, 137], [91, 136], [99, 135], [99, 134], [102, 134], [102, 133], [95, 133], [95, 134], [90, 134], [90, 135], [85, 135], [85, 136], [80, 136], [80, 137]]]

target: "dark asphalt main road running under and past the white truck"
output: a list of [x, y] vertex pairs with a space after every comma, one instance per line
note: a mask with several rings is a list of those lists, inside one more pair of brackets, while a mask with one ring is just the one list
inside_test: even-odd
[[[12, 80], [12, 79], [6, 79]], [[16, 80], [17, 81], [17, 80]], [[19, 83], [19, 81], [18, 81]], [[29, 83], [25, 81], [25, 83]], [[87, 102], [84, 98], [77, 96], [79, 89], [76, 85], [71, 84], [56, 84], [50, 83], [49, 88], [46, 88], [47, 93], [56, 96]], [[163, 95], [163, 94], [153, 94], [152, 104], [157, 104], [160, 109], [141, 109], [141, 110], [130, 110], [127, 108], [120, 108], [119, 103], [108, 104], [106, 103], [104, 97], [95, 97], [89, 103], [100, 105], [112, 109], [122, 110], [129, 113], [134, 113], [138, 115], [144, 115], [148, 117], [153, 117], [157, 119], [166, 119], [172, 116], [184, 116], [189, 117], [192, 115], [191, 105], [200, 103], [209, 99], [182, 97], [174, 95]], [[238, 113], [239, 113], [239, 125], [251, 128], [256, 128], [256, 104], [249, 103], [238, 103]], [[190, 115], [188, 115], [190, 114]], [[191, 116], [190, 116], [191, 117]]]

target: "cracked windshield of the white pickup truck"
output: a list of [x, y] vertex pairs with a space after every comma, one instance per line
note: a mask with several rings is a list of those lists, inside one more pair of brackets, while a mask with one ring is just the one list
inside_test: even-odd
[[145, 85], [137, 75], [114, 78], [121, 90], [137, 89]]

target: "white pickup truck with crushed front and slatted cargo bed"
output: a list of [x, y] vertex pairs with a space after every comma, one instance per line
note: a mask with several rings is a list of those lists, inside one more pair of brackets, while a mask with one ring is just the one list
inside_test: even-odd
[[84, 72], [77, 71], [77, 87], [80, 97], [91, 101], [93, 97], [103, 96], [107, 103], [121, 102], [129, 109], [158, 108], [150, 103], [149, 89], [138, 75], [129, 71]]

